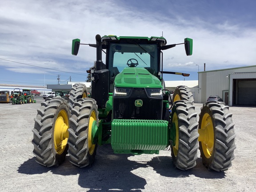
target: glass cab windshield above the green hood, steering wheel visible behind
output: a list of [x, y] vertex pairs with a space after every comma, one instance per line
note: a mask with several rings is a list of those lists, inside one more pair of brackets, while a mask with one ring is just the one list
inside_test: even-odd
[[156, 76], [157, 59], [156, 44], [110, 44], [108, 69], [111, 77], [115, 77], [132, 62]]

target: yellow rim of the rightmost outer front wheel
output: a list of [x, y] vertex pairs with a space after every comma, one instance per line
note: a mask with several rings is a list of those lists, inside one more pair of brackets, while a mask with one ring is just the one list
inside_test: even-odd
[[210, 158], [214, 147], [214, 126], [212, 118], [208, 113], [205, 113], [202, 119], [201, 128], [199, 129], [199, 140], [202, 144], [204, 156]]

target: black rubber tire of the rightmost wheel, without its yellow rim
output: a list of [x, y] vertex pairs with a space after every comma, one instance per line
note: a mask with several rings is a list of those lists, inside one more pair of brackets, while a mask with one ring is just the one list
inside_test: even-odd
[[[212, 112], [215, 125], [215, 148], [211, 158], [207, 159], [200, 152], [203, 164], [211, 170], [225, 171], [232, 166], [234, 159], [234, 150], [236, 149], [234, 132], [234, 123], [232, 121], [232, 113], [229, 112], [229, 107], [225, 106], [224, 102], [207, 102], [201, 108], [200, 119], [204, 116], [204, 112], [210, 110]], [[202, 112], [203, 111], [203, 112]], [[221, 111], [221, 112], [220, 112]]]

